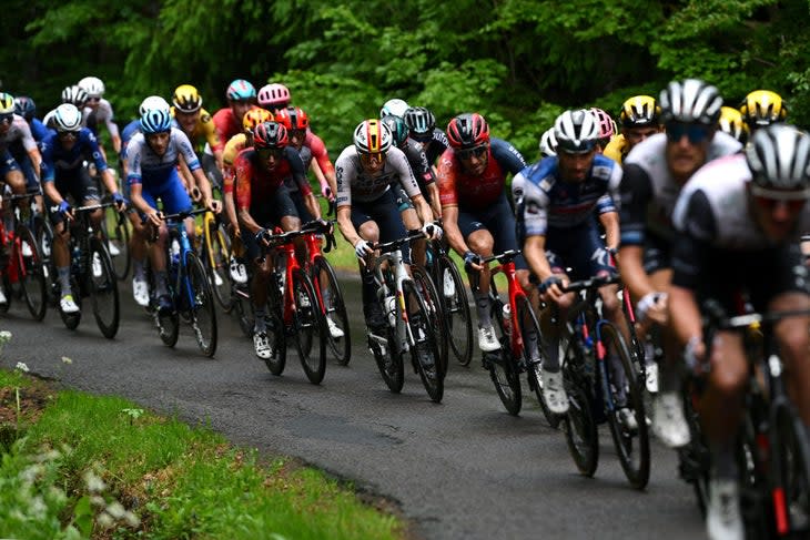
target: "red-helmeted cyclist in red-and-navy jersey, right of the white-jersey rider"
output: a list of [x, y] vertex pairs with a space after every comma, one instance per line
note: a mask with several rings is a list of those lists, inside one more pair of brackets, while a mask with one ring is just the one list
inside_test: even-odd
[[[489, 136], [489, 125], [478, 113], [455, 116], [447, 125], [447, 149], [438, 163], [442, 217], [450, 247], [464, 258], [478, 313], [478, 347], [500, 348], [490, 318], [489, 268], [480, 257], [517, 249], [515, 216], [506, 195], [506, 175], [516, 175], [526, 162], [510, 143]], [[526, 259], [515, 259], [520, 285], [529, 289]]]

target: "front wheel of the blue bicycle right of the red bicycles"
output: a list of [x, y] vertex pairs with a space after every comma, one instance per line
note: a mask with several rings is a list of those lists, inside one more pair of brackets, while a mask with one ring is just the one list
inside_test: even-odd
[[[616, 327], [604, 323], [599, 335], [606, 350], [606, 373], [614, 403], [612, 412], [606, 411], [610, 435], [627, 480], [634, 488], [644, 489], [650, 477], [650, 442], [639, 378], [632, 367], [630, 350]], [[619, 421], [621, 406], [632, 411], [636, 429], [630, 430]]]

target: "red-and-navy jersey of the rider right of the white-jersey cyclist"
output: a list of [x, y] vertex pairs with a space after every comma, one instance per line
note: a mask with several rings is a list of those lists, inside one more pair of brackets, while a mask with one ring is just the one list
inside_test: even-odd
[[469, 212], [486, 210], [504, 193], [506, 174], [517, 174], [525, 167], [520, 152], [500, 139], [489, 140], [487, 166], [478, 176], [464, 172], [454, 150], [447, 149], [439, 160], [437, 175], [442, 206], [458, 206]]

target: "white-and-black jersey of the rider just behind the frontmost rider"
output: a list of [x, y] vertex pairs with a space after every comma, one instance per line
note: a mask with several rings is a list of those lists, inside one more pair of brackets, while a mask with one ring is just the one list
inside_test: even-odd
[[[647, 235], [670, 244], [675, 236], [672, 208], [681, 186], [672, 179], [666, 160], [666, 133], [657, 133], [634, 146], [625, 160], [621, 181], [622, 246], [644, 246]], [[742, 149], [731, 135], [717, 132], [707, 162]]]

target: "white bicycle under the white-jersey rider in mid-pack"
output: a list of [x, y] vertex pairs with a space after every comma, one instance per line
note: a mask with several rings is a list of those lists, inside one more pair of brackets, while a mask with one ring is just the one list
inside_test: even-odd
[[411, 353], [414, 371], [419, 374], [427, 395], [435, 403], [444, 395], [444, 370], [432, 316], [419, 287], [408, 275], [403, 262], [402, 247], [413, 240], [424, 238], [422, 231], [372, 246], [379, 255], [371, 263], [377, 288], [377, 302], [387, 325], [382, 330], [369, 329], [368, 348], [374, 355], [379, 374], [391, 391], [398, 394], [405, 383], [403, 355]]

